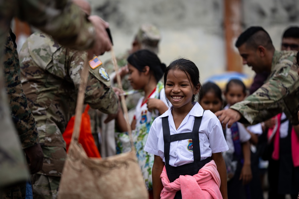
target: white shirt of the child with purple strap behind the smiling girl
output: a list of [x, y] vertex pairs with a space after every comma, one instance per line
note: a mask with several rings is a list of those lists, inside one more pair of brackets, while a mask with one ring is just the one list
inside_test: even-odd
[[[228, 109], [230, 107], [230, 105], [226, 105], [224, 107], [224, 110]], [[241, 143], [246, 142], [248, 140], [250, 140], [251, 135], [250, 133], [246, 130], [246, 128], [244, 127], [243, 124], [237, 122], [238, 125], [238, 129], [239, 129], [239, 138]], [[231, 137], [231, 129], [227, 127], [226, 125], [226, 136], [225, 136], [225, 140], [226, 143], [228, 145], [228, 152], [230, 153], [234, 153], [235, 152], [235, 147], [234, 147], [234, 142], [233, 142], [233, 138]]]

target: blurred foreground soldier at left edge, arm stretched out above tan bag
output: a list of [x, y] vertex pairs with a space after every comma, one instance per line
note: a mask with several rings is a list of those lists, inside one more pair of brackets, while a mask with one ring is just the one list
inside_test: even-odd
[[[61, 44], [77, 50], [90, 49], [90, 55], [109, 50], [111, 43], [107, 25], [97, 17], [86, 17], [79, 7], [68, 0], [11, 0], [0, 1], [0, 46], [4, 46], [10, 21], [17, 16], [22, 21], [49, 33]], [[51, 24], [51, 25], [50, 25]], [[0, 63], [3, 54], [0, 53]], [[0, 64], [0, 192], [4, 187], [28, 179], [24, 155], [16, 129], [8, 115], [4, 88], [3, 65]], [[1, 193], [0, 193], [1, 197]]]

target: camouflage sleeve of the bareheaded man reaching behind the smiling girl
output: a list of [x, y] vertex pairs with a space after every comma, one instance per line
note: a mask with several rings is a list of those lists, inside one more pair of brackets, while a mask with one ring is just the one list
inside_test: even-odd
[[244, 101], [230, 107], [241, 113], [243, 118], [240, 122], [257, 124], [285, 111], [284, 98], [299, 87], [298, 66], [290, 60], [284, 60], [275, 68], [277, 68], [276, 72], [270, 75], [270, 79], [262, 87]]

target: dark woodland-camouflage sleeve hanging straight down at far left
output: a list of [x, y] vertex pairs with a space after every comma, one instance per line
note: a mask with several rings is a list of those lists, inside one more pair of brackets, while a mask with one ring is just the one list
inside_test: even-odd
[[8, 100], [10, 103], [11, 115], [22, 148], [39, 143], [39, 136], [36, 129], [35, 120], [27, 104], [27, 99], [20, 80], [19, 57], [13, 39], [8, 33], [4, 45], [4, 79]]

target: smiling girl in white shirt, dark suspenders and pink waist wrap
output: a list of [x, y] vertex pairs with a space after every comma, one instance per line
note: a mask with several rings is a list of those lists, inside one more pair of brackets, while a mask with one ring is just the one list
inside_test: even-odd
[[173, 61], [164, 87], [172, 106], [152, 123], [144, 148], [155, 155], [154, 198], [227, 198], [221, 152], [228, 146], [217, 117], [196, 102], [198, 68], [190, 60]]

